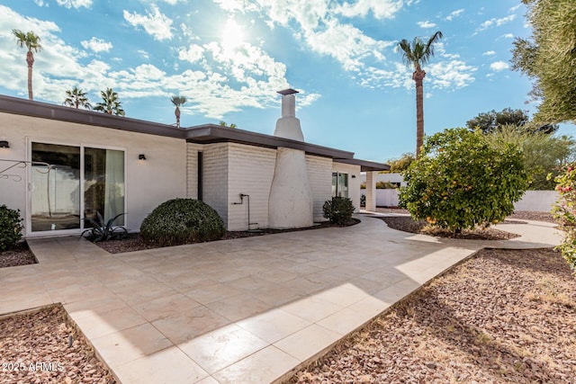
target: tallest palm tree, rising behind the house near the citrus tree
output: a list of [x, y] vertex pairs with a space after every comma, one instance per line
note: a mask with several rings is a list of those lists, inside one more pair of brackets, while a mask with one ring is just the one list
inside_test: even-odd
[[407, 66], [414, 68], [412, 80], [416, 82], [416, 158], [419, 158], [420, 148], [424, 142], [424, 87], [422, 80], [424, 80], [426, 72], [422, 66], [434, 56], [432, 45], [440, 39], [442, 39], [442, 32], [437, 31], [427, 42], [416, 37], [411, 42], [404, 39], [398, 44], [402, 50], [402, 61]]

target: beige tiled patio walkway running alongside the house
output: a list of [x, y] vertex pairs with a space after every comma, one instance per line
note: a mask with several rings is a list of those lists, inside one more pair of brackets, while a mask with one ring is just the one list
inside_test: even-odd
[[[32, 239], [38, 264], [0, 269], [0, 314], [61, 302], [124, 384], [269, 383], [484, 246], [555, 246], [553, 224], [508, 241], [350, 228], [110, 255]], [[497, 228], [499, 228], [497, 227]]]

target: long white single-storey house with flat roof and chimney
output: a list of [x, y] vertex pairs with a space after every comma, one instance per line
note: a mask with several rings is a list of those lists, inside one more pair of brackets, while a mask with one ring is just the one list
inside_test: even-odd
[[[149, 212], [176, 197], [205, 201], [229, 230], [271, 221], [298, 227], [283, 224], [285, 212], [302, 210], [290, 206], [298, 205], [297, 193], [310, 196], [301, 205], [310, 206], [313, 221], [324, 220], [322, 204], [337, 194], [359, 210], [360, 173], [375, 196], [372, 176], [388, 165], [285, 133], [298, 121], [293, 97], [283, 94], [272, 136], [214, 124], [177, 129], [0, 95], [0, 205], [21, 210], [25, 237], [78, 234], [96, 211], [105, 218], [126, 212], [118, 224], [139, 230]], [[305, 191], [285, 174], [293, 157], [307, 173]]]

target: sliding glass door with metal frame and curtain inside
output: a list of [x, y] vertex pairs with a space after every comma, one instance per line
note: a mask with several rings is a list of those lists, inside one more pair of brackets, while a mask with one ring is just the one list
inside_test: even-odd
[[31, 166], [31, 232], [77, 232], [91, 227], [86, 219], [96, 212], [105, 220], [124, 212], [123, 150], [32, 142], [31, 160], [50, 165], [48, 173]]

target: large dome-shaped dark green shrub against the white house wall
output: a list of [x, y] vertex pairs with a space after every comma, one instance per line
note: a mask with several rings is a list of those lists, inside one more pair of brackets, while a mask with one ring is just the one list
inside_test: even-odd
[[203, 201], [173, 199], [158, 205], [140, 226], [149, 244], [177, 246], [218, 240], [226, 233], [218, 212]]

